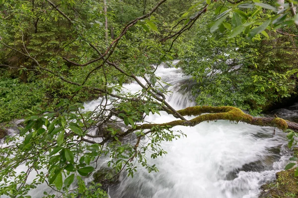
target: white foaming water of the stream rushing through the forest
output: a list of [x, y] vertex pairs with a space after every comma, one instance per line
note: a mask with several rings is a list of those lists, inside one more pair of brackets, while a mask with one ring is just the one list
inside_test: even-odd
[[[156, 75], [173, 85], [167, 87], [172, 92], [167, 101], [175, 109], [195, 105], [189, 92], [192, 81], [180, 69], [161, 65]], [[124, 87], [132, 93], [141, 90], [137, 84]], [[85, 110], [93, 110], [99, 103], [100, 99], [85, 103]], [[148, 116], [146, 121], [164, 123], [175, 119], [160, 113]], [[151, 159], [148, 154], [148, 163], [156, 164], [159, 172], [148, 173], [138, 165], [134, 178], [123, 173], [120, 183], [109, 189], [111, 198], [257, 198], [260, 186], [274, 180], [275, 173], [291, 156], [285, 134], [277, 130], [272, 136], [272, 127], [217, 121], [174, 129], [183, 131], [187, 138], [163, 142], [162, 148], [168, 152], [163, 157]], [[29, 181], [33, 178], [31, 175]], [[91, 180], [87, 178], [86, 183]], [[42, 185], [30, 195], [42, 197], [47, 189]]]

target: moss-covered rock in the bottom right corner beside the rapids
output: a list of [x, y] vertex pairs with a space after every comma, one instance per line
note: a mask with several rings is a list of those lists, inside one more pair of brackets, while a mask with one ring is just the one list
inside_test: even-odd
[[261, 186], [259, 198], [298, 198], [298, 177], [296, 168], [276, 173], [276, 181]]

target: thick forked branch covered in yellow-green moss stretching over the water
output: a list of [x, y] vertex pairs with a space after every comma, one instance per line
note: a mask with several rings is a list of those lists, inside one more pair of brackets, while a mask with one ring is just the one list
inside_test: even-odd
[[142, 124], [129, 129], [125, 134], [140, 129], [151, 129], [152, 127], [166, 126], [195, 126], [204, 121], [229, 120], [234, 122], [245, 122], [257, 126], [277, 127], [281, 130], [292, 129], [298, 131], [298, 124], [278, 117], [252, 117], [244, 113], [241, 109], [232, 106], [193, 106], [178, 111], [182, 116], [197, 116], [191, 120], [175, 120], [163, 124]]

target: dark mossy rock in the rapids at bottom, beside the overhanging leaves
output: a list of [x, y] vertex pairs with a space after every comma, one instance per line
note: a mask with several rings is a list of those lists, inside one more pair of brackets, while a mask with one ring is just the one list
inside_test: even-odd
[[108, 190], [108, 187], [119, 182], [119, 175], [117, 172], [109, 167], [100, 168], [93, 174], [94, 182], [100, 183], [104, 191]]

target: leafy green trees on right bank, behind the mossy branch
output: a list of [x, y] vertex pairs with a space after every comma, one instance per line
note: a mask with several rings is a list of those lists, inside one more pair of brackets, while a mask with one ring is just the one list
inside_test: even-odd
[[[253, 40], [247, 40], [244, 35], [249, 35], [253, 24], [272, 17], [272, 12], [252, 14], [253, 4], [249, 6], [251, 9], [218, 4], [214, 11], [199, 19], [195, 27], [197, 34], [191, 40], [192, 48], [183, 55], [185, 61], [181, 65], [197, 81], [193, 93], [198, 103], [233, 105], [258, 113], [296, 93], [297, 78], [289, 73], [297, 69], [296, 42], [289, 36], [268, 31], [263, 32], [265, 36], [255, 35]], [[217, 17], [217, 14], [220, 15]], [[206, 18], [207, 21], [220, 18], [217, 22], [221, 24], [211, 24], [209, 29]], [[250, 25], [242, 28], [245, 24]], [[216, 29], [219, 31], [208, 34]]]

